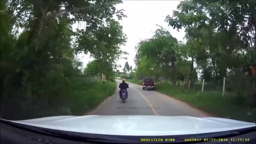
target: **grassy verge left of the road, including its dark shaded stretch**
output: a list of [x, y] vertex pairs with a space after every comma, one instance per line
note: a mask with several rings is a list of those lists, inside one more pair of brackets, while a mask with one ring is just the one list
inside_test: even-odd
[[[69, 84], [44, 97], [33, 96], [32, 101], [23, 97], [9, 97], [1, 101], [1, 117], [23, 120], [60, 115], [84, 115], [116, 91], [116, 82], [91, 81], [86, 77], [69, 78]], [[4, 105], [3, 105], [4, 104]]]

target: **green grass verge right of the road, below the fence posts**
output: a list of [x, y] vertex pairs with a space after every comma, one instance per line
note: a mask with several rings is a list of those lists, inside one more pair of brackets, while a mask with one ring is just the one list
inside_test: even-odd
[[232, 93], [226, 93], [222, 97], [222, 92], [218, 90], [205, 90], [201, 93], [196, 87], [187, 91], [171, 84], [158, 84], [157, 90], [216, 117], [255, 122], [255, 106], [249, 106], [246, 99], [236, 97]]

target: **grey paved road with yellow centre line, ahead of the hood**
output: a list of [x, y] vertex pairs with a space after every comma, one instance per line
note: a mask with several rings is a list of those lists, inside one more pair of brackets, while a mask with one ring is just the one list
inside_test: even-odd
[[[117, 84], [121, 81], [117, 80]], [[129, 83], [128, 99], [119, 99], [118, 89], [95, 110], [86, 115], [162, 115], [207, 117], [209, 114], [192, 108], [179, 100], [157, 91], [142, 90], [141, 85]]]

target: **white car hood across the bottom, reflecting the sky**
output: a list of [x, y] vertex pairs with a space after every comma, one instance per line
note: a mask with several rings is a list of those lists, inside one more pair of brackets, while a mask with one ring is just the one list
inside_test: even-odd
[[255, 127], [255, 123], [190, 116], [53, 116], [11, 121], [48, 129], [110, 135], [180, 135]]

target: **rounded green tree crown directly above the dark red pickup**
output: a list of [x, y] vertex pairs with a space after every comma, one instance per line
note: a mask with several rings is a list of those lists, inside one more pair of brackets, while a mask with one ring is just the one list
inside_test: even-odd
[[[166, 29], [159, 26], [151, 39], [141, 41], [137, 46], [136, 60], [138, 78], [166, 77], [173, 83], [187, 77], [189, 63], [187, 61], [187, 46], [178, 43], [176, 38]], [[186, 65], [188, 64], [188, 65]]]

